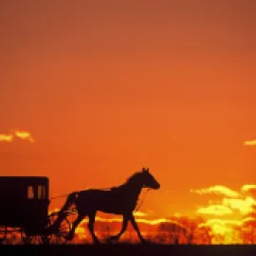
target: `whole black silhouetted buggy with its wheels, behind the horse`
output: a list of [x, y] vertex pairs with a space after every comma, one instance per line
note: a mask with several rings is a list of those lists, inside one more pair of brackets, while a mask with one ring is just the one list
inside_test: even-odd
[[58, 232], [46, 232], [58, 217], [48, 214], [49, 203], [46, 176], [0, 176], [0, 244], [10, 233], [20, 233], [26, 244], [64, 244], [70, 223], [64, 218]]

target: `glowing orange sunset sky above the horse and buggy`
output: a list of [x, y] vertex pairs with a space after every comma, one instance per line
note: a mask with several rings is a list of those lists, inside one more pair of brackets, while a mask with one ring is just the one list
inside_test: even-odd
[[145, 166], [161, 189], [141, 209], [157, 216], [215, 200], [196, 190], [255, 184], [255, 11], [254, 0], [2, 0], [0, 174], [46, 175], [54, 196]]

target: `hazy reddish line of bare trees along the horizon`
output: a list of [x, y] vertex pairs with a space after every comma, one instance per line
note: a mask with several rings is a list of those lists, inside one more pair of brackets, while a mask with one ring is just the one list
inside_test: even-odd
[[[86, 227], [86, 225], [86, 223], [82, 224], [84, 227]], [[104, 241], [110, 235], [119, 231], [120, 223], [98, 222], [96, 229], [97, 233]], [[242, 239], [243, 244], [254, 245], [256, 242], [256, 206], [253, 207], [253, 211], [245, 216], [243, 225], [233, 227], [232, 230], [233, 233], [230, 234], [230, 241], [236, 241], [237, 237], [239, 237]], [[156, 228], [155, 226], [152, 226], [152, 229], [149, 227], [147, 231], [143, 233], [146, 239], [159, 244], [211, 245], [213, 239], [217, 244], [225, 244], [225, 236], [222, 234], [214, 234], [212, 229], [205, 225], [205, 221], [203, 219], [192, 220], [189, 217], [171, 218], [170, 222], [160, 223]], [[86, 233], [82, 237], [83, 238], [80, 238], [80, 236], [76, 234], [73, 243], [92, 242], [90, 236], [86, 236]], [[127, 233], [121, 238], [120, 242], [139, 243], [134, 230], [131, 228], [128, 228]], [[4, 242], [4, 244], [12, 245], [22, 243], [23, 242], [18, 232], [9, 233]]]

